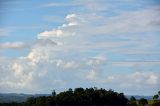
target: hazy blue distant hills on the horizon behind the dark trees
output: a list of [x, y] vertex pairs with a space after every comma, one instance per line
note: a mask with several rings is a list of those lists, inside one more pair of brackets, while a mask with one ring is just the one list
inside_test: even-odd
[[[0, 93], [0, 103], [9, 103], [9, 102], [25, 102], [29, 97], [38, 97], [38, 96], [50, 96], [51, 94], [18, 94], [18, 93]], [[129, 99], [132, 95], [127, 95]], [[133, 95], [137, 100], [140, 98], [145, 98], [151, 100], [152, 96], [138, 96]]]

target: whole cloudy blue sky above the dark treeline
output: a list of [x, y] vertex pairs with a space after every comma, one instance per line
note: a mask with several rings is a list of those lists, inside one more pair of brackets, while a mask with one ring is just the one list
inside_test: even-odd
[[160, 90], [159, 0], [0, 0], [0, 93]]

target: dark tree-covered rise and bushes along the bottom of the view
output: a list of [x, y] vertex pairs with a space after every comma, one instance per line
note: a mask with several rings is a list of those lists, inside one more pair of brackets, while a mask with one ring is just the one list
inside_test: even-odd
[[123, 93], [97, 88], [76, 88], [51, 96], [30, 97], [23, 103], [0, 103], [0, 106], [160, 106], [159, 96], [147, 101], [144, 98], [128, 100]]

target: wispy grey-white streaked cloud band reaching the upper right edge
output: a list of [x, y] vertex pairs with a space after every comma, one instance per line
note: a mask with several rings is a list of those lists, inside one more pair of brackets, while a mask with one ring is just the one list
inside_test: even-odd
[[[151, 24], [159, 16], [157, 8], [152, 7], [139, 11], [122, 12], [114, 17], [101, 16], [99, 20], [97, 19], [99, 17], [97, 14], [90, 18], [88, 15], [83, 14], [81, 18], [84, 18], [87, 23], [84, 23], [85, 25], [82, 26], [81, 31], [94, 35], [112, 34], [117, 36], [121, 36], [121, 33], [159, 31], [158, 26]], [[96, 23], [99, 23], [99, 25], [96, 25]]]

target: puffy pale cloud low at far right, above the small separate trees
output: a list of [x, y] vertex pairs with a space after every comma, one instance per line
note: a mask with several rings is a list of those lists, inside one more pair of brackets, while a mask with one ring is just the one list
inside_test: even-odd
[[143, 90], [148, 88], [159, 88], [158, 80], [160, 76], [154, 72], [134, 72], [124, 77], [119, 77], [119, 85], [122, 88], [135, 88]]

